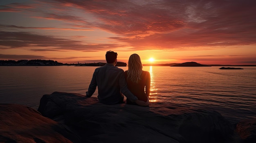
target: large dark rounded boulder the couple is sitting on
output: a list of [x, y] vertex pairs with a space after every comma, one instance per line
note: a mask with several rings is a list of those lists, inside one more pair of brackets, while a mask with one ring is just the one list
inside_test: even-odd
[[[106, 105], [96, 97], [54, 92], [38, 111], [72, 131], [74, 143], [229, 143], [235, 126], [218, 112], [162, 103]], [[72, 137], [79, 137], [72, 139]]]

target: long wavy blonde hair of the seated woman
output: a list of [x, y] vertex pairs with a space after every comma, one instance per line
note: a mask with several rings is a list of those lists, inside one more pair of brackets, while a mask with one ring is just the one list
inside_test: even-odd
[[138, 83], [141, 80], [140, 75], [142, 73], [142, 64], [139, 55], [132, 54], [128, 61], [127, 75], [131, 81]]

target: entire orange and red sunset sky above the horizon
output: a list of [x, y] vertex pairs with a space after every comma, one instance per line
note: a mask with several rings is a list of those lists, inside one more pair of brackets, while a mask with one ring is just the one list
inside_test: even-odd
[[255, 0], [0, 0], [0, 59], [256, 65], [255, 13]]

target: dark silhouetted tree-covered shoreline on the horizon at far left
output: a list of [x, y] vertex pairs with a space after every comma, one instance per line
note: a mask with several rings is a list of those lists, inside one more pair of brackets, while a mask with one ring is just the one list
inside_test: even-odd
[[22, 60], [0, 60], [0, 66], [61, 66], [63, 63], [59, 63], [54, 60], [44, 59], [22, 59]]

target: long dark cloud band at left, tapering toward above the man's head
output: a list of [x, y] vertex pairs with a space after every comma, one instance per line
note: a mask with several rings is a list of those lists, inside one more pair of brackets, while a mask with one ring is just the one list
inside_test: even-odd
[[[2, 40], [0, 48], [23, 48], [29, 47], [30, 51], [100, 51], [118, 48], [124, 45], [120, 44], [81, 44], [81, 41], [56, 38], [54, 36], [37, 35], [36, 33], [29, 32], [7, 32], [0, 31], [0, 37]], [[34, 48], [33, 48], [34, 47]], [[40, 48], [39, 48], [40, 47]], [[42, 48], [44, 47], [44, 48]]]

